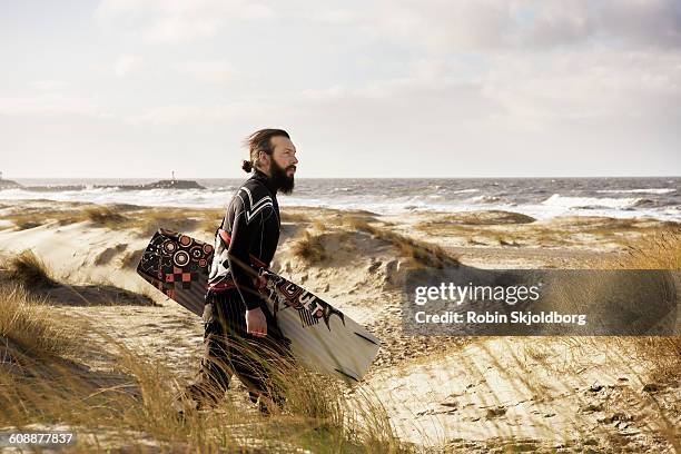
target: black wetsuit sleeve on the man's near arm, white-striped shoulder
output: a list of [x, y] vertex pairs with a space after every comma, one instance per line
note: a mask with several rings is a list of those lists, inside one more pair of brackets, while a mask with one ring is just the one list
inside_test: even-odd
[[246, 198], [239, 199], [235, 208], [227, 259], [244, 304], [248, 309], [255, 309], [260, 306], [260, 297], [253, 283], [256, 275], [250, 267], [250, 249], [255, 234], [261, 228], [263, 215], [272, 209], [272, 203], [268, 206], [267, 200], [256, 198], [256, 203], [251, 204]]

